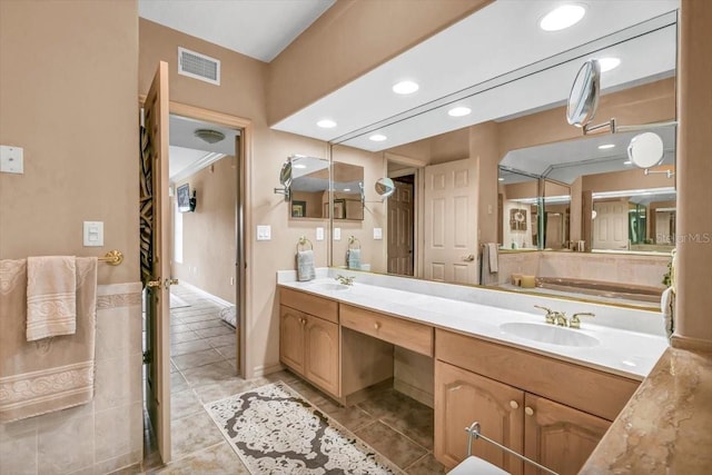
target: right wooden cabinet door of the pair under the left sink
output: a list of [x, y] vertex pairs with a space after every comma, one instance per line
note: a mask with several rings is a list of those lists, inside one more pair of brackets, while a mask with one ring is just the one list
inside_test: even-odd
[[307, 316], [305, 330], [305, 376], [323, 389], [340, 397], [338, 377], [338, 325]]

